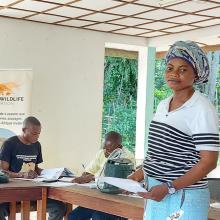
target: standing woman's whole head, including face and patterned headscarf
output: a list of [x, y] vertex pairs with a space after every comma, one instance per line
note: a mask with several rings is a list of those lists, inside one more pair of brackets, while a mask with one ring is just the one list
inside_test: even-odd
[[166, 82], [172, 89], [208, 81], [209, 64], [206, 54], [192, 41], [177, 41], [166, 55]]

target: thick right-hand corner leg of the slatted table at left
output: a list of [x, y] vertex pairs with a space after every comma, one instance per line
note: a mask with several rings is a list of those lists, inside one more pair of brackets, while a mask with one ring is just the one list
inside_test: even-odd
[[37, 200], [37, 220], [46, 220], [47, 189], [42, 188], [42, 199]]

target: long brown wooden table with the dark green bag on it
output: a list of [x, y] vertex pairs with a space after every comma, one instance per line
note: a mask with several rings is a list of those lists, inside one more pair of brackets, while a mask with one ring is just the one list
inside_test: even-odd
[[80, 205], [133, 220], [143, 219], [144, 200], [141, 198], [101, 193], [97, 189], [82, 186], [50, 187], [47, 194], [48, 198], [66, 203]]

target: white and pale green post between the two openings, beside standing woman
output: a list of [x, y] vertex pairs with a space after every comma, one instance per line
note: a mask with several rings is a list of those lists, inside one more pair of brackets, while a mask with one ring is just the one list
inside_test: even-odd
[[143, 160], [147, 151], [148, 130], [153, 118], [156, 48], [138, 51], [138, 88], [135, 158]]

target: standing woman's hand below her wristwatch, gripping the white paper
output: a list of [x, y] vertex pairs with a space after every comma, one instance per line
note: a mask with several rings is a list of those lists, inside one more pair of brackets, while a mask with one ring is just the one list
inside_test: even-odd
[[144, 199], [152, 199], [160, 202], [168, 194], [168, 188], [165, 184], [153, 186], [148, 192], [139, 192], [138, 195]]

